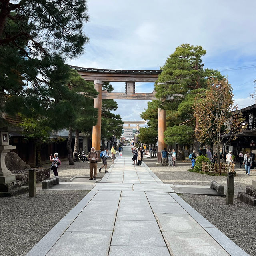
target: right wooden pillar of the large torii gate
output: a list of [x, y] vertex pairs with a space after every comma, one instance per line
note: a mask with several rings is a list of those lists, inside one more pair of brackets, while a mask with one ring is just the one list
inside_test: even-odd
[[166, 110], [158, 108], [158, 154], [157, 162], [161, 163], [161, 152], [167, 145], [164, 143], [164, 131], [166, 131]]

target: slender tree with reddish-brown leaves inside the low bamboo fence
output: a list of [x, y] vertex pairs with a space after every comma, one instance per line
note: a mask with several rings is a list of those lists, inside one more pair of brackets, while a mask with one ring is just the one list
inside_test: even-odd
[[210, 138], [217, 148], [218, 164], [220, 163], [220, 144], [235, 138], [234, 134], [241, 131], [242, 113], [233, 106], [232, 87], [227, 79], [208, 80], [208, 90], [204, 97], [197, 96], [194, 104], [194, 115], [198, 120], [198, 139], [205, 142]]

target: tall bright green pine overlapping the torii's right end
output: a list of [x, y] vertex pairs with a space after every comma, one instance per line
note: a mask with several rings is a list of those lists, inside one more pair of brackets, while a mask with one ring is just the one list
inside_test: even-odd
[[[204, 92], [209, 77], [221, 78], [218, 71], [204, 69], [202, 46], [182, 44], [169, 56], [162, 67], [163, 72], [155, 83], [156, 97], [160, 108], [170, 111], [170, 121], [179, 120], [180, 126], [194, 128], [194, 150], [198, 153], [198, 120], [194, 117], [192, 105], [196, 94]], [[180, 138], [181, 139], [181, 138]]]

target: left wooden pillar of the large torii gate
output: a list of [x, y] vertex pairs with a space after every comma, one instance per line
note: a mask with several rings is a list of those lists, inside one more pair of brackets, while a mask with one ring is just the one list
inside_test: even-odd
[[92, 147], [98, 152], [98, 162], [100, 162], [102, 84], [100, 80], [94, 81], [94, 88], [99, 94], [93, 101], [93, 107], [98, 108], [98, 119], [97, 124], [92, 126]]

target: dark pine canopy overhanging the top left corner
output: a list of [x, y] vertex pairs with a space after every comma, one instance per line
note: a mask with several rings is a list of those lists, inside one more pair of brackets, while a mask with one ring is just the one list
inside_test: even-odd
[[50, 104], [52, 95], [47, 94], [50, 91], [47, 89], [67, 78], [65, 59], [77, 57], [88, 42], [82, 31], [83, 23], [88, 20], [85, 0], [16, 2], [0, 2], [2, 116], [6, 102], [9, 99], [16, 102], [10, 96], [21, 102], [26, 98], [37, 106], [40, 106], [35, 102], [37, 99], [41, 106]]

